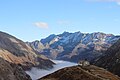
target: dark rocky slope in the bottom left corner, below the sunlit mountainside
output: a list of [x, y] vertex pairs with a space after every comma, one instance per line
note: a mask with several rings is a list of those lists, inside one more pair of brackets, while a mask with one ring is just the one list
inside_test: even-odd
[[18, 65], [0, 58], [0, 80], [31, 80], [31, 78]]

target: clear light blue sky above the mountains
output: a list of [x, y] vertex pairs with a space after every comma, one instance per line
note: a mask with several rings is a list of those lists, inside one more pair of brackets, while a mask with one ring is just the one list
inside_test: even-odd
[[0, 31], [23, 41], [64, 31], [119, 30], [120, 0], [0, 0]]

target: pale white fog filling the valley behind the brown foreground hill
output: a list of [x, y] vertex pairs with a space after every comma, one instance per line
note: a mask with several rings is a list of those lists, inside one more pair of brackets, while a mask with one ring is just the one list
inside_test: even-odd
[[32, 80], [37, 80], [38, 78], [41, 78], [45, 75], [53, 73], [59, 69], [77, 65], [76, 63], [71, 63], [71, 62], [61, 61], [61, 60], [52, 60], [52, 61], [56, 63], [56, 65], [54, 65], [54, 68], [50, 70], [37, 69], [33, 67], [30, 71], [26, 71], [26, 73], [30, 75]]

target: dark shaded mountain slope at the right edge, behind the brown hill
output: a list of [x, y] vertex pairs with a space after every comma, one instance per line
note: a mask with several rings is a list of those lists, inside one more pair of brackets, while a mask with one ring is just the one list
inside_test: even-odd
[[120, 76], [120, 40], [113, 44], [95, 65], [103, 67]]

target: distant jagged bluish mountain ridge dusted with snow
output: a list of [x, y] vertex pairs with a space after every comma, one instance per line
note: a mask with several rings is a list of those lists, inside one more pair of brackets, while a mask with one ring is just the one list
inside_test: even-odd
[[80, 59], [92, 61], [101, 56], [119, 38], [120, 36], [101, 32], [64, 32], [27, 44], [48, 58], [78, 62]]

